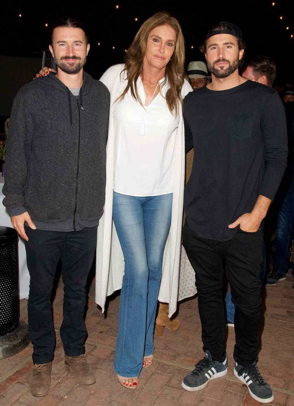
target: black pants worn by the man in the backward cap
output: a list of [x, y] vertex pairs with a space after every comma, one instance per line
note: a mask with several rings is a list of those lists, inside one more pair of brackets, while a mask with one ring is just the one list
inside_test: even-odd
[[251, 365], [257, 359], [262, 244], [262, 229], [256, 233], [239, 229], [232, 240], [218, 242], [195, 236], [185, 222], [183, 245], [195, 270], [203, 349], [209, 350], [215, 361], [225, 359], [224, 261], [236, 307], [234, 359], [241, 365]]

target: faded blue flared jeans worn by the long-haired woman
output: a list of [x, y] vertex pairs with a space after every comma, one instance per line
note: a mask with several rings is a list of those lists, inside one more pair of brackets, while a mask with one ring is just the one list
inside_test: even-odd
[[138, 377], [144, 356], [154, 352], [153, 330], [172, 199], [172, 193], [135, 197], [113, 192], [112, 217], [125, 261], [114, 370], [125, 378]]

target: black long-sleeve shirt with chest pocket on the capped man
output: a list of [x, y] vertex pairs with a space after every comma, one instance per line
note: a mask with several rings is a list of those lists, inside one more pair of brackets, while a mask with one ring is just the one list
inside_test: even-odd
[[251, 212], [259, 194], [273, 200], [287, 163], [287, 126], [277, 92], [251, 82], [203, 87], [184, 99], [185, 149], [194, 147], [184, 192], [189, 228], [228, 241], [228, 225]]

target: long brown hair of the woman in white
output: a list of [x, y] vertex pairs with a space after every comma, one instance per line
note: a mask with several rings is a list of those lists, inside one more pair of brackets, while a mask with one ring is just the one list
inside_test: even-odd
[[[182, 104], [181, 89], [184, 84], [184, 60], [185, 44], [181, 26], [175, 17], [172, 17], [167, 11], [160, 11], [148, 18], [138, 30], [134, 41], [130, 45], [125, 57], [125, 69], [127, 73], [128, 84], [123, 93], [117, 100], [123, 100], [128, 90], [131, 89], [132, 97], [143, 106], [137, 89], [137, 80], [143, 71], [143, 59], [147, 48], [147, 39], [150, 32], [162, 25], [171, 26], [176, 32], [175, 51], [171, 60], [165, 68], [165, 80], [160, 88], [169, 82], [169, 89], [166, 92], [166, 104], [171, 113], [179, 112], [179, 103]], [[122, 72], [123, 72], [122, 71]]]

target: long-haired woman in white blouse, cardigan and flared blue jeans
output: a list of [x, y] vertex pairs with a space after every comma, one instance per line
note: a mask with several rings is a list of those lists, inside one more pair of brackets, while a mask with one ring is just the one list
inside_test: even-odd
[[[184, 38], [166, 12], [149, 18], [124, 65], [100, 79], [111, 95], [106, 202], [98, 227], [96, 301], [121, 288], [114, 370], [136, 389], [153, 360], [157, 300], [177, 304], [184, 188]], [[112, 224], [112, 218], [113, 224]]]

